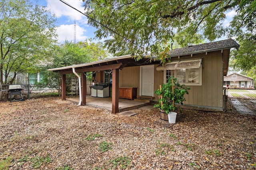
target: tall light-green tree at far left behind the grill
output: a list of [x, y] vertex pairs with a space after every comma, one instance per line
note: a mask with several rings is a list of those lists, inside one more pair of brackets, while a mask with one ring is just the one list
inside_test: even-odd
[[[0, 1], [0, 84], [12, 84], [20, 72], [36, 72], [51, 57], [55, 21], [33, 1]], [[10, 73], [14, 75], [8, 78]]]

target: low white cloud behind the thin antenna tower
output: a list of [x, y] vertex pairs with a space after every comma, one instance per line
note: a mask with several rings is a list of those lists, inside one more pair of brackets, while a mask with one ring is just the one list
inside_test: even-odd
[[[65, 40], [74, 41], [74, 24], [60, 25], [60, 27], [56, 29], [56, 32], [58, 34], [58, 42], [62, 43]], [[86, 29], [76, 25], [76, 42], [84, 41], [88, 38], [84, 36], [84, 32], [86, 32]]]

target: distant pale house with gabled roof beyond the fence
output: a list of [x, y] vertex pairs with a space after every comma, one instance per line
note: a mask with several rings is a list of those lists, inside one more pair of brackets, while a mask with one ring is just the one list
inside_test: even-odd
[[229, 88], [254, 89], [254, 80], [239, 73], [232, 73], [224, 76], [223, 86], [227, 85], [229, 86]]

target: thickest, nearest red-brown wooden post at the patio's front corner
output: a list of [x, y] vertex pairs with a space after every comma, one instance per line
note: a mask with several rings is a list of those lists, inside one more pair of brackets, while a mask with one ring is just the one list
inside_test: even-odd
[[119, 69], [112, 70], [112, 113], [118, 113]]

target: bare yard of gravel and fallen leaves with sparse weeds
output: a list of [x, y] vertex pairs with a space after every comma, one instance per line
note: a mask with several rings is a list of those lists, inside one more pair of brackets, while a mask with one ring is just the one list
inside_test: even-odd
[[57, 97], [0, 102], [0, 169], [256, 169], [255, 116], [184, 110], [164, 126], [158, 109], [132, 111]]

